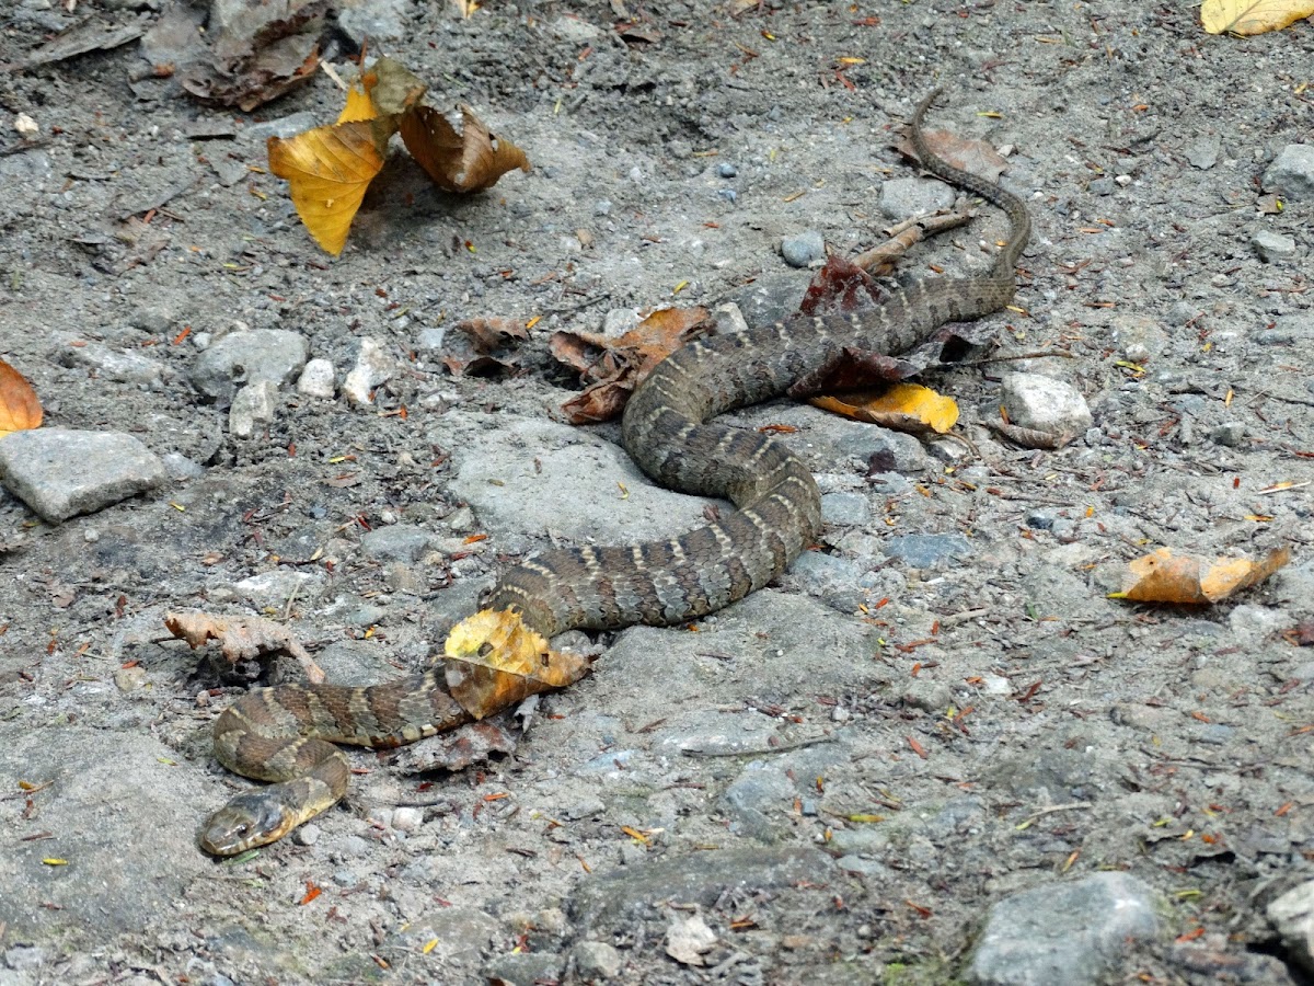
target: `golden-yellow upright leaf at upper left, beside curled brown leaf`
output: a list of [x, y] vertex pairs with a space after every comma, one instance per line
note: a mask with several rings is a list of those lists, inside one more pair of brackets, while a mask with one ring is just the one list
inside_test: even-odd
[[290, 185], [292, 202], [315, 242], [335, 256], [347, 243], [365, 189], [384, 167], [392, 117], [317, 126], [268, 141], [269, 171]]

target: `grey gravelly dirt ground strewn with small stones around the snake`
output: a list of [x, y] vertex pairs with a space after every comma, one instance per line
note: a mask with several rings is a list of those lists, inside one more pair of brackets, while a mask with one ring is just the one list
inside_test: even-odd
[[[0, 33], [0, 355], [46, 410], [0, 443], [0, 985], [1310, 982], [1309, 22], [769, 0], [625, 33], [632, 0], [368, 0], [343, 26], [533, 171], [457, 200], [398, 151], [334, 259], [261, 170], [267, 135], [336, 116], [327, 76], [247, 114], [135, 41], [13, 68], [155, 7], [24, 0]], [[696, 523], [614, 426], [553, 418], [577, 385], [548, 337], [788, 310], [783, 239], [853, 255], [883, 208], [945, 197], [892, 147], [936, 83], [930, 128], [1000, 147], [1035, 222], [979, 355], [1067, 355], [925, 375], [967, 442], [736, 414], [795, 429], [827, 494], [778, 585], [598, 639], [589, 678], [499, 723], [512, 752], [353, 753], [343, 807], [205, 857], [247, 786], [209, 749], [244, 682], [164, 614], [264, 615], [378, 681], [526, 552]], [[1003, 230], [983, 208], [904, 271], [983, 268]], [[484, 317], [539, 321], [511, 373], [451, 376], [445, 330]], [[338, 396], [298, 389], [307, 359]], [[1083, 398], [1075, 442], [983, 426], [1016, 371]], [[109, 493], [59, 501], [85, 479]], [[1293, 560], [1208, 607], [1108, 598], [1159, 546]]]

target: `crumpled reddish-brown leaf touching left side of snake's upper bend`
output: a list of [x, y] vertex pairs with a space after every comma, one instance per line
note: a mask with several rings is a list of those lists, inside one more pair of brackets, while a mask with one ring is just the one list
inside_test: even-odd
[[710, 325], [706, 308], [664, 308], [615, 339], [599, 333], [553, 333], [548, 350], [589, 383], [561, 409], [572, 425], [615, 418], [653, 367]]

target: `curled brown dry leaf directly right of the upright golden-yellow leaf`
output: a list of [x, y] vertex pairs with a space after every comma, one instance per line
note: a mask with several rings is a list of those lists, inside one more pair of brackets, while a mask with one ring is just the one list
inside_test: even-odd
[[401, 117], [406, 150], [447, 192], [482, 192], [511, 168], [530, 170], [524, 151], [489, 133], [466, 105], [459, 106], [460, 130], [432, 106], [411, 106]]

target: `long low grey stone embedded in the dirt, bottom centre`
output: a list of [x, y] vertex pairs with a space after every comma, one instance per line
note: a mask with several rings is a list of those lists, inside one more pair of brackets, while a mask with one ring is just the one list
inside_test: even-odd
[[819, 849], [714, 849], [586, 877], [572, 895], [570, 911], [581, 931], [587, 932], [595, 926], [623, 922], [657, 902], [673, 899], [711, 907], [727, 890], [750, 893], [802, 881], [825, 883], [837, 874], [834, 862]]

